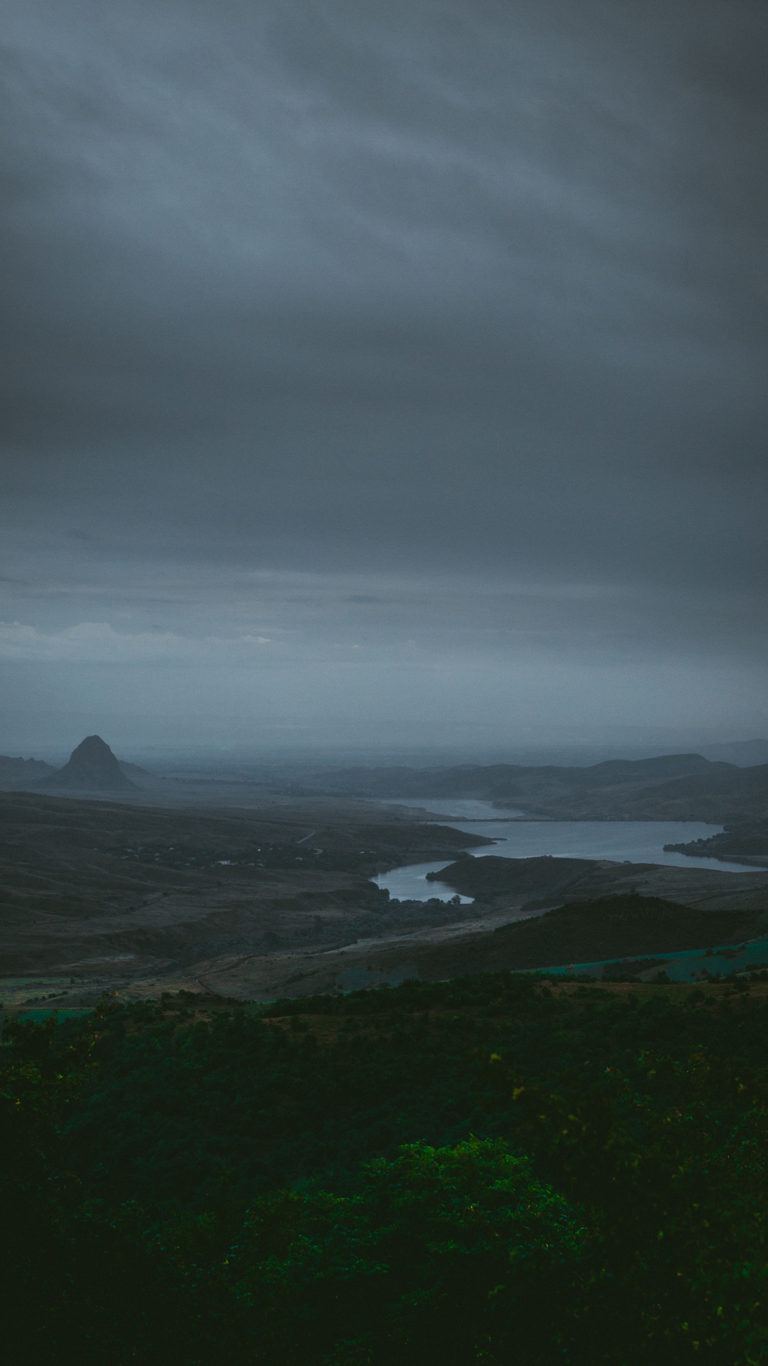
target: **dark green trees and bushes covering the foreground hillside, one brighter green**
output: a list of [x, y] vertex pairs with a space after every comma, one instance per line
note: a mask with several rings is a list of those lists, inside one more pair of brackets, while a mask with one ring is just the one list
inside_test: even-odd
[[508, 973], [11, 1022], [4, 1340], [33, 1363], [756, 1363], [763, 984]]

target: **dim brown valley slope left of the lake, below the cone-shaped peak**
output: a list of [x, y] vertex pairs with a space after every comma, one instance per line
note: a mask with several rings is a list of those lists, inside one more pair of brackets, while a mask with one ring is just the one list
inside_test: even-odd
[[0, 971], [107, 981], [387, 933], [402, 912], [372, 874], [488, 843], [370, 814], [364, 803], [204, 813], [0, 796]]

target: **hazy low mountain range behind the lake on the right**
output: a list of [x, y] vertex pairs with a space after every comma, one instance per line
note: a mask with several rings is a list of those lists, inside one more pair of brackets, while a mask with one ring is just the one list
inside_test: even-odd
[[324, 775], [325, 791], [359, 796], [476, 798], [526, 816], [571, 821], [679, 820], [726, 824], [768, 816], [768, 764], [739, 768], [702, 754], [608, 759], [589, 768], [514, 764], [369, 768]]

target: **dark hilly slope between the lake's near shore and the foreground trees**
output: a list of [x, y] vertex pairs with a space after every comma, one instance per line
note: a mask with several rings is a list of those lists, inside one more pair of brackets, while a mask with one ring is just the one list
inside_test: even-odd
[[[484, 870], [486, 863], [491, 869]], [[506, 865], [506, 876], [495, 873], [493, 865]], [[323, 948], [307, 941], [302, 947], [277, 947], [269, 953], [212, 956], [198, 962], [186, 977], [174, 977], [172, 982], [176, 988], [205, 989], [243, 1000], [273, 1000], [396, 984], [407, 977], [441, 979], [502, 967], [551, 967], [558, 962], [626, 958], [635, 952], [656, 955], [670, 952], [671, 944], [681, 943], [681, 934], [683, 947], [705, 948], [711, 941], [728, 943], [732, 937], [764, 933], [763, 917], [768, 912], [765, 872], [731, 874], [590, 859], [495, 856], [452, 865], [452, 869], [459, 867], [467, 874], [466, 885], [482, 891], [482, 899], [478, 896], [473, 906], [452, 908], [432, 903], [414, 908], [411, 903], [398, 908], [394, 903], [385, 915], [377, 912], [368, 923], [358, 922], [359, 929], [346, 943]], [[480, 878], [477, 885], [476, 877]], [[593, 906], [605, 897], [630, 903], [631, 914], [614, 923], [612, 937], [601, 938], [603, 929], [592, 923], [586, 912], [585, 933], [577, 940], [573, 934], [571, 938], [566, 936], [555, 951], [552, 934], [564, 933], [568, 926], [573, 929], [573, 922], [567, 918], [549, 921], [544, 908], [558, 902], [566, 907]], [[659, 903], [676, 910], [664, 912], [664, 923], [644, 912], [638, 925], [637, 908]], [[668, 915], [678, 912], [681, 923], [675, 929]], [[578, 918], [581, 911], [575, 914]], [[533, 925], [544, 921], [548, 928], [540, 938]], [[506, 932], [523, 922], [532, 926], [530, 937], [507, 940]], [[659, 928], [664, 933], [656, 936]], [[514, 949], [517, 958], [510, 956], [511, 949], [507, 952], [508, 944], [522, 945], [521, 953], [518, 947]], [[146, 981], [138, 989], [157, 994], [163, 985], [169, 982]]]

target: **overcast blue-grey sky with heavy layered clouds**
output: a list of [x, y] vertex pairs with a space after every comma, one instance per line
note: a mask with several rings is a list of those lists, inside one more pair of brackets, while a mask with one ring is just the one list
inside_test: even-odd
[[765, 734], [763, 0], [0, 14], [0, 747]]

